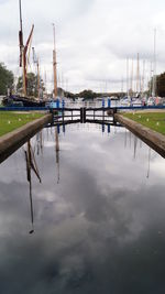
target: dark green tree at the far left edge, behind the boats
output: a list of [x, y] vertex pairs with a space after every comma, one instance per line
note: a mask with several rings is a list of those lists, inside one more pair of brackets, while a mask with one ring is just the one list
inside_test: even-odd
[[13, 88], [13, 73], [0, 63], [0, 95], [7, 95], [7, 89]]

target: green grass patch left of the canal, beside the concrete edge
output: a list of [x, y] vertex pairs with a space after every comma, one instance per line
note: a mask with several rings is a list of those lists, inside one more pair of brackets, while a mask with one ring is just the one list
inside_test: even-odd
[[18, 113], [11, 111], [0, 111], [0, 137], [9, 133], [28, 122], [43, 117], [42, 113]]

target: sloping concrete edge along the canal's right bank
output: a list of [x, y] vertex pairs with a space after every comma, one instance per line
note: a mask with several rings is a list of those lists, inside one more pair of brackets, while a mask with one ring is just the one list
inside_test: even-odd
[[123, 124], [127, 129], [133, 132], [165, 159], [165, 135], [157, 133], [156, 131], [151, 130], [139, 122], [128, 119], [121, 113], [116, 113], [114, 120]]

